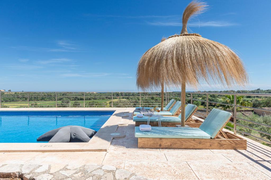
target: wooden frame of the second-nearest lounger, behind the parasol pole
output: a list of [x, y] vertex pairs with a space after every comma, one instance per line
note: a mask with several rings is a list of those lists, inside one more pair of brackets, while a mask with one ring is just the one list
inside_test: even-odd
[[[188, 119], [185, 122], [185, 125], [189, 125], [189, 127], [199, 127], [201, 125], [202, 121], [192, 119], [192, 116], [197, 110], [198, 110], [198, 107], [196, 107], [196, 109], [188, 117]], [[170, 117], [169, 115], [166, 115], [166, 116]], [[140, 126], [141, 124], [147, 124], [147, 122], [135, 122], [135, 126]], [[158, 122], [150, 122], [150, 125], [153, 127], [157, 127]], [[161, 122], [162, 127], [176, 127], [176, 125], [180, 125], [180, 123]]]

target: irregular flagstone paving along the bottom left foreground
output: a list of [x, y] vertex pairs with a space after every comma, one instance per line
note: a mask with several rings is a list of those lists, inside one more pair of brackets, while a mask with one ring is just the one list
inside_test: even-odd
[[[117, 169], [110, 165], [84, 165], [79, 168], [70, 169], [64, 167], [56, 172], [51, 172], [51, 167], [46, 165], [35, 164], [7, 164], [0, 167], [0, 177], [7, 179], [23, 180], [111, 180], [111, 179], [130, 179], [130, 180], [147, 180], [143, 176], [137, 176], [135, 173], [125, 169]], [[0, 178], [0, 179], [1, 179]]]

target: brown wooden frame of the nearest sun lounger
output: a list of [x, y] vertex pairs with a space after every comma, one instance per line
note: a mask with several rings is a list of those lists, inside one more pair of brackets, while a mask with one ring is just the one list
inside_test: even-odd
[[222, 131], [229, 120], [213, 139], [138, 138], [138, 148], [246, 150], [247, 140]]

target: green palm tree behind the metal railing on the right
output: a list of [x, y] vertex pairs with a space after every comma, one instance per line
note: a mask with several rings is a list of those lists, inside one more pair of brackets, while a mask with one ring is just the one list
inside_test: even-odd
[[[222, 96], [223, 103], [225, 104], [234, 104], [234, 95], [225, 95]], [[236, 96], [236, 105], [238, 106], [247, 106], [247, 107], [252, 107], [252, 102], [249, 100], [245, 100], [244, 96]], [[239, 109], [240, 107], [237, 107]], [[233, 106], [229, 105], [222, 105], [223, 110], [231, 109], [233, 110]]]

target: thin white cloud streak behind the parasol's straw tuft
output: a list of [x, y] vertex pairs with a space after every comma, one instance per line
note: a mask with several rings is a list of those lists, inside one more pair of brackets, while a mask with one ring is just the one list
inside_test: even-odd
[[[181, 22], [147, 22], [153, 26], [182, 26]], [[224, 26], [236, 26], [238, 24], [225, 22], [225, 21], [206, 21], [206, 22], [192, 22], [188, 23], [190, 27], [224, 27]]]

